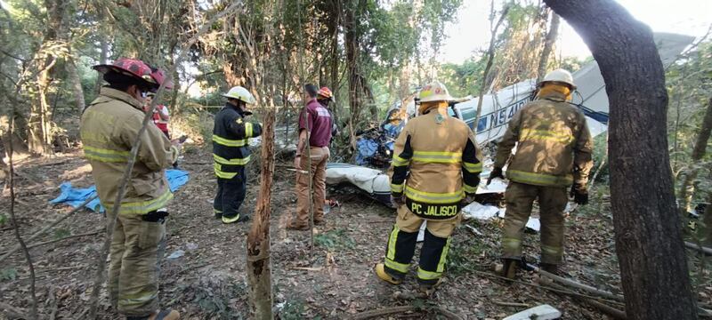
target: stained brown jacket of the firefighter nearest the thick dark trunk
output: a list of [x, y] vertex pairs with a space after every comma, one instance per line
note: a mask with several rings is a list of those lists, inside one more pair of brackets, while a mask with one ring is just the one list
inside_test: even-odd
[[545, 187], [585, 185], [593, 161], [593, 140], [586, 117], [556, 93], [533, 100], [519, 110], [497, 150], [496, 167], [503, 167], [514, 144], [516, 153], [506, 177]]

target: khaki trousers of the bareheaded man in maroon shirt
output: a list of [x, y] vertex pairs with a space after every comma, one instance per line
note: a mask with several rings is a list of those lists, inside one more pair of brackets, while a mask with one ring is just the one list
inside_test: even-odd
[[[324, 202], [327, 198], [327, 162], [328, 147], [311, 147], [312, 175], [296, 172], [296, 227], [309, 225], [309, 180], [312, 180], [314, 221], [324, 220]], [[302, 170], [308, 171], [309, 159], [302, 153]]]

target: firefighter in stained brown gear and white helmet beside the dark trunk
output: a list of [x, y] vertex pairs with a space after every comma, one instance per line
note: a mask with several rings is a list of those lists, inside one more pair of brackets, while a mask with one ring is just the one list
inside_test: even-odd
[[[514, 278], [522, 261], [522, 233], [534, 200], [541, 220], [541, 268], [557, 273], [563, 257], [563, 210], [569, 201], [587, 204], [587, 180], [593, 141], [586, 117], [569, 101], [576, 90], [573, 77], [557, 69], [538, 84], [536, 99], [519, 110], [499, 142], [489, 182], [506, 177], [506, 217], [502, 237], [502, 276]], [[511, 155], [514, 144], [516, 153]]]

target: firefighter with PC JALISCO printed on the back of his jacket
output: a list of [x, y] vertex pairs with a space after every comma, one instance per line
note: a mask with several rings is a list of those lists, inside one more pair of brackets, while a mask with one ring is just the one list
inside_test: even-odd
[[417, 281], [431, 292], [440, 283], [450, 235], [460, 222], [460, 208], [472, 202], [480, 183], [481, 155], [473, 132], [449, 116], [447, 88], [440, 82], [419, 93], [419, 114], [409, 121], [393, 147], [392, 204], [398, 216], [376, 276], [401, 284], [409, 271], [420, 226], [427, 221]]

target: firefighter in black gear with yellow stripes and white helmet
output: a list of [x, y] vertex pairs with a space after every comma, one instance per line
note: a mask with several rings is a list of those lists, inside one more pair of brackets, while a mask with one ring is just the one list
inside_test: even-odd
[[225, 107], [215, 115], [213, 127], [213, 159], [217, 176], [217, 195], [213, 209], [215, 218], [228, 224], [249, 220], [247, 214], [239, 214], [247, 190], [245, 165], [250, 161], [247, 140], [259, 137], [262, 125], [245, 121], [245, 116], [252, 115], [247, 105], [256, 102], [247, 89], [232, 87], [223, 97], [228, 100]]

